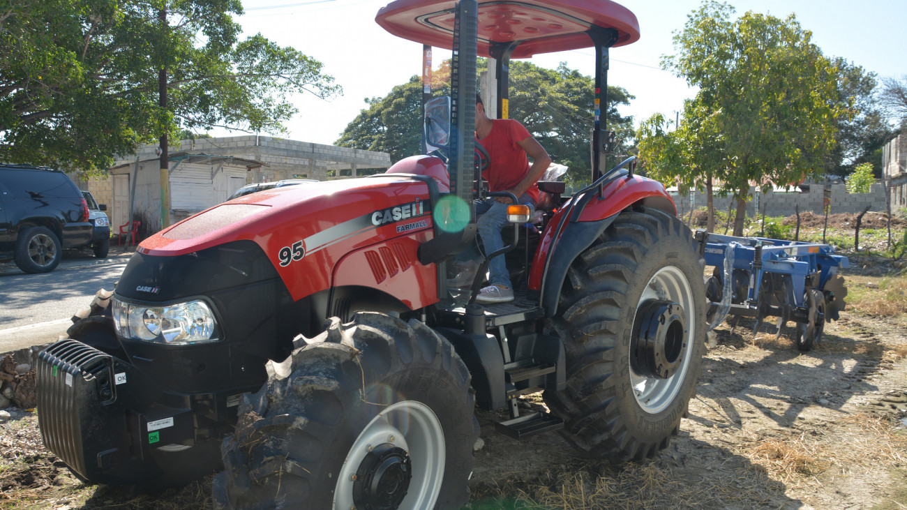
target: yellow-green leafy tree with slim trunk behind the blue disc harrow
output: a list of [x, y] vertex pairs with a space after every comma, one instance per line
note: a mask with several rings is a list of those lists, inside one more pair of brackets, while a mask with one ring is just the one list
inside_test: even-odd
[[708, 143], [691, 150], [713, 152], [694, 160], [718, 163], [709, 168], [734, 193], [734, 233], [742, 235], [750, 183], [767, 191], [821, 173], [844, 110], [837, 70], [794, 15], [733, 14], [730, 5], [704, 2], [663, 64], [699, 88], [685, 122]]

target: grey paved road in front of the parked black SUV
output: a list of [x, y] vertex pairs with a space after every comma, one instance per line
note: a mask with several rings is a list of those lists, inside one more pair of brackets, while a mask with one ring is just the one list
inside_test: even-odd
[[112, 249], [103, 260], [66, 252], [57, 269], [45, 274], [0, 264], [0, 353], [56, 341], [98, 289], [113, 289], [130, 257], [130, 250]]

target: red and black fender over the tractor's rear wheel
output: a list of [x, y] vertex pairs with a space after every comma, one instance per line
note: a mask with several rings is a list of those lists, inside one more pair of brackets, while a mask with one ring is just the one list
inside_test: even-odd
[[576, 201], [573, 207], [568, 202], [548, 222], [532, 260], [529, 289], [541, 290], [540, 303], [546, 317], [553, 317], [557, 311], [561, 286], [573, 260], [599, 238], [620, 211], [645, 206], [677, 214], [661, 183], [637, 175], [611, 181], [600, 197], [573, 197], [571, 201]]

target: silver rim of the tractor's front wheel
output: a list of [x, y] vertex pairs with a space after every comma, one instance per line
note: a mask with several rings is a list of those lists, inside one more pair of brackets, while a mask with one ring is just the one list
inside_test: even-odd
[[[386, 407], [356, 437], [346, 455], [337, 477], [334, 508], [434, 507], [444, 480], [444, 451], [444, 429], [430, 407], [414, 400]], [[373, 452], [382, 453], [382, 459], [376, 461]], [[401, 489], [395, 485], [404, 469], [404, 458], [412, 467], [409, 469], [412, 477]], [[385, 468], [388, 463], [395, 466]], [[399, 505], [385, 506], [388, 501], [395, 501], [399, 492], [382, 496], [364, 493], [364, 472], [381, 478], [370, 480], [369, 485], [380, 485], [392, 492], [405, 490]]]

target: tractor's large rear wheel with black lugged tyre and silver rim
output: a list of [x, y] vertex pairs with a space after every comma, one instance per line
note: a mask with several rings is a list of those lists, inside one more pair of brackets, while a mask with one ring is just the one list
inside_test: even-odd
[[573, 261], [552, 326], [567, 388], [545, 402], [581, 452], [641, 460], [668, 446], [706, 346], [702, 261], [674, 216], [623, 211]]

